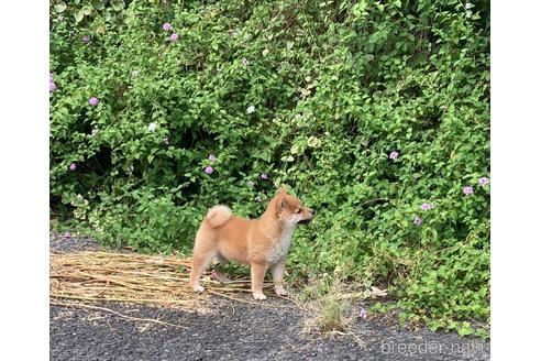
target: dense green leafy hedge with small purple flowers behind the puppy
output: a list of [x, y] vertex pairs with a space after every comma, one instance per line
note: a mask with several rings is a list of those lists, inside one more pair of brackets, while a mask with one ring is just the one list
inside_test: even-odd
[[[388, 286], [402, 319], [489, 321], [487, 2], [51, 2], [51, 209], [188, 252], [279, 184], [288, 269]], [[484, 333], [483, 330], [477, 331]]]

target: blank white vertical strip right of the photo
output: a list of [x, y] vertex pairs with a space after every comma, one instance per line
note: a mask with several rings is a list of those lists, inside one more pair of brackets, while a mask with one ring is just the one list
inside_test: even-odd
[[539, 1], [492, 3], [492, 360], [539, 354]]

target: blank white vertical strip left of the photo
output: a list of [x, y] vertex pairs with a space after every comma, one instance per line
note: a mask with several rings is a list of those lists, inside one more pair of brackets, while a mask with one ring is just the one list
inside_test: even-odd
[[48, 360], [48, 2], [0, 11], [0, 360]]

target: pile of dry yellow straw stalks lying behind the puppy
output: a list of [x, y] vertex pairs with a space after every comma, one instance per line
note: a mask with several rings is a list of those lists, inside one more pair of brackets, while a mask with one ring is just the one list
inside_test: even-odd
[[247, 278], [220, 284], [206, 276], [207, 292], [197, 295], [188, 284], [190, 259], [177, 256], [91, 251], [52, 253], [49, 263], [52, 303], [108, 300], [190, 308], [199, 307], [208, 294], [238, 299], [231, 293], [250, 292]]

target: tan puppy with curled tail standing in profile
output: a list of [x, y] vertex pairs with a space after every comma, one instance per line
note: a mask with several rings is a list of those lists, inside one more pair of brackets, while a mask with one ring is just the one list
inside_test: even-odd
[[[267, 298], [262, 285], [268, 267], [273, 272], [276, 294], [286, 295], [283, 280], [292, 232], [298, 223], [310, 222], [313, 215], [312, 209], [303, 207], [284, 187], [258, 219], [233, 216], [225, 206], [212, 207], [197, 231], [190, 286], [197, 292], [205, 291], [199, 280], [216, 259], [218, 263], [234, 261], [251, 265], [255, 299]], [[220, 281], [227, 278], [218, 272], [217, 276]]]

